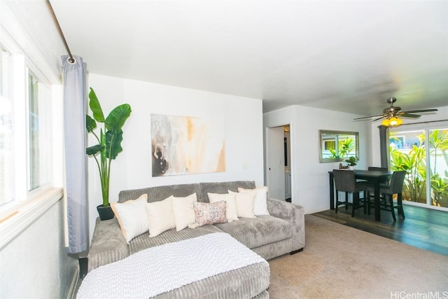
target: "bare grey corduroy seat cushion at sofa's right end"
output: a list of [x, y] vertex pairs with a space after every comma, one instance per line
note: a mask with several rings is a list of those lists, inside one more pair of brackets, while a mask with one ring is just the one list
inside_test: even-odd
[[215, 224], [215, 226], [250, 249], [293, 236], [293, 226], [288, 221], [269, 215], [240, 218], [239, 221]]

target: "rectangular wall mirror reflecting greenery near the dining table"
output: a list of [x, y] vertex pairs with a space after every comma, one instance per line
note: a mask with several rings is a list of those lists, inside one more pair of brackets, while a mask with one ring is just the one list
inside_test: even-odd
[[319, 130], [319, 162], [359, 159], [358, 132]]

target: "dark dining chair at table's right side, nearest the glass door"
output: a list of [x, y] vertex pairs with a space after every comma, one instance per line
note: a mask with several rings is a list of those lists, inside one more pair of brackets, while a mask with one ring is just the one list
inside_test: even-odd
[[[391, 181], [386, 184], [381, 184], [379, 186], [379, 193], [382, 195], [379, 197], [380, 200], [380, 209], [384, 209], [392, 212], [393, 221], [396, 221], [395, 218], [395, 209], [398, 210], [398, 214], [401, 214], [403, 219], [405, 218], [405, 211], [403, 210], [402, 204], [402, 191], [403, 191], [403, 183], [405, 182], [406, 171], [402, 170], [399, 172], [393, 172]], [[373, 186], [367, 187], [367, 212], [370, 214], [370, 207], [372, 206], [372, 202], [370, 202], [370, 192], [374, 192]], [[397, 204], [393, 202], [393, 195], [397, 195]], [[381, 207], [381, 203], [384, 207]]]

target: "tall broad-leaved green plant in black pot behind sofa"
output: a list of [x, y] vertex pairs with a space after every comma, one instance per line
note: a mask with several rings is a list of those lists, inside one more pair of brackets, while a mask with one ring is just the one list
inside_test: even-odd
[[[121, 128], [125, 125], [125, 121], [129, 118], [132, 110], [129, 104], [121, 104], [104, 118], [103, 110], [99, 104], [97, 95], [92, 88], [90, 88], [89, 99], [89, 106], [90, 110], [92, 110], [93, 118], [88, 115], [85, 116], [85, 127], [88, 133], [94, 135], [98, 144], [87, 147], [85, 153], [93, 157], [97, 162], [103, 197], [103, 204], [100, 204], [97, 207], [97, 210], [99, 218], [101, 218], [101, 220], [107, 220], [113, 218], [113, 211], [109, 204], [111, 162], [117, 158], [117, 155], [121, 151], [123, 151], [123, 148], [121, 147], [123, 130], [121, 130]], [[97, 122], [104, 124], [100, 128], [99, 136], [94, 132], [97, 128]]]

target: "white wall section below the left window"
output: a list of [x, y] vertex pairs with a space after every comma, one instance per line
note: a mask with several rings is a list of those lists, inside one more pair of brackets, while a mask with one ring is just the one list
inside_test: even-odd
[[0, 298], [66, 298], [76, 258], [64, 246], [59, 200], [0, 251]]

